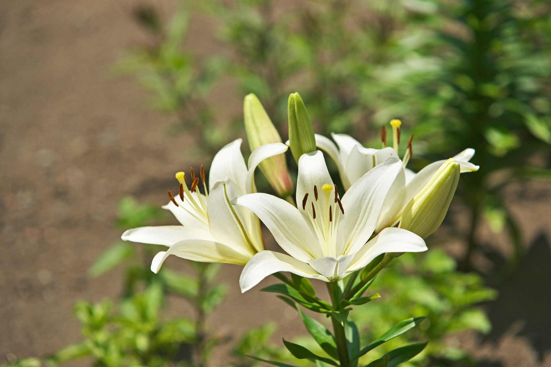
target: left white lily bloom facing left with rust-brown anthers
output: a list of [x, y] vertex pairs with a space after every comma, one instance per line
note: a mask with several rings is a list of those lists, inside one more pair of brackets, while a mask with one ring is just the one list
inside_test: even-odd
[[180, 195], [163, 208], [170, 210], [181, 226], [140, 227], [122, 234], [123, 240], [170, 247], [155, 255], [153, 272], [158, 272], [171, 254], [195, 261], [244, 265], [264, 250], [258, 217], [245, 207], [229, 203], [239, 195], [256, 193], [255, 168], [264, 159], [285, 152], [287, 146], [273, 143], [258, 147], [249, 157], [247, 169], [241, 142], [242, 139], [233, 141], [214, 156], [208, 190], [201, 172], [206, 195], [196, 190], [199, 177], [192, 173], [193, 183], [188, 189], [183, 172], [176, 174], [181, 183]]

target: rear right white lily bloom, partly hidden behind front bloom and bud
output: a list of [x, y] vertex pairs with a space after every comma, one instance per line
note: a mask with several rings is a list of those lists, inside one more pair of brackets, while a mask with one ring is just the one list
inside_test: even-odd
[[[331, 136], [337, 145], [318, 134], [315, 135], [316, 145], [326, 151], [337, 164], [345, 189], [388, 157], [398, 157], [396, 150], [390, 146], [383, 149], [365, 148], [352, 136], [346, 134], [331, 134]], [[479, 166], [469, 162], [473, 156], [474, 149], [471, 148], [453, 156], [461, 166], [461, 173], [478, 171]], [[395, 226], [399, 222], [408, 202], [423, 189], [444, 162], [446, 160], [430, 163], [418, 173], [414, 173], [405, 167], [407, 158], [404, 160], [401, 172], [397, 174], [392, 187], [388, 190], [375, 233], [381, 232], [383, 228]]]

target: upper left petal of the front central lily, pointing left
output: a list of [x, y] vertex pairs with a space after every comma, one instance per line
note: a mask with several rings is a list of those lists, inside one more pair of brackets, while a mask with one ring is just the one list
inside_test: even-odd
[[277, 243], [294, 258], [306, 262], [323, 257], [313, 229], [289, 202], [273, 195], [255, 193], [239, 196], [232, 204], [252, 210], [272, 232]]

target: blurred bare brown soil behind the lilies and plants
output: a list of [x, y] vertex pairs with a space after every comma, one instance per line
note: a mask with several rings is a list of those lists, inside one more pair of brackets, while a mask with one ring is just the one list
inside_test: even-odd
[[[176, 3], [152, 2], [167, 16]], [[134, 81], [110, 73], [125, 50], [147, 41], [131, 6], [126, 0], [0, 2], [0, 363], [8, 353], [41, 356], [79, 340], [75, 300], [120, 292], [120, 273], [95, 280], [86, 273], [120, 237], [112, 224], [117, 200], [131, 194], [165, 204], [174, 172], [195, 163], [182, 149], [191, 138], [167, 135], [168, 117], [145, 107]], [[215, 50], [193, 27], [195, 47]], [[228, 92], [217, 99], [231, 106], [222, 115], [239, 112], [241, 98], [229, 92], [231, 85], [222, 90]], [[549, 237], [551, 186], [529, 185], [524, 196], [519, 190], [510, 189], [510, 204], [523, 238], [530, 243], [541, 231]], [[178, 259], [168, 264], [181, 266]], [[273, 295], [241, 295], [240, 270], [224, 266], [230, 293], [211, 325], [239, 336], [273, 320], [279, 324], [274, 341], [304, 333]], [[188, 313], [185, 304], [175, 306]], [[541, 317], [548, 322], [549, 311]], [[491, 343], [469, 334], [450, 342], [474, 350], [485, 365], [551, 366], [549, 348], [538, 361], [533, 339], [516, 336], [515, 325]]]

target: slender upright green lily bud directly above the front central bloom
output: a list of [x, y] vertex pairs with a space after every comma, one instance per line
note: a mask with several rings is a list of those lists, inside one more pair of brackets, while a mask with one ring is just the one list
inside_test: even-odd
[[306, 106], [298, 93], [289, 96], [289, 146], [296, 163], [301, 155], [316, 150], [316, 138], [314, 129], [310, 123]]

